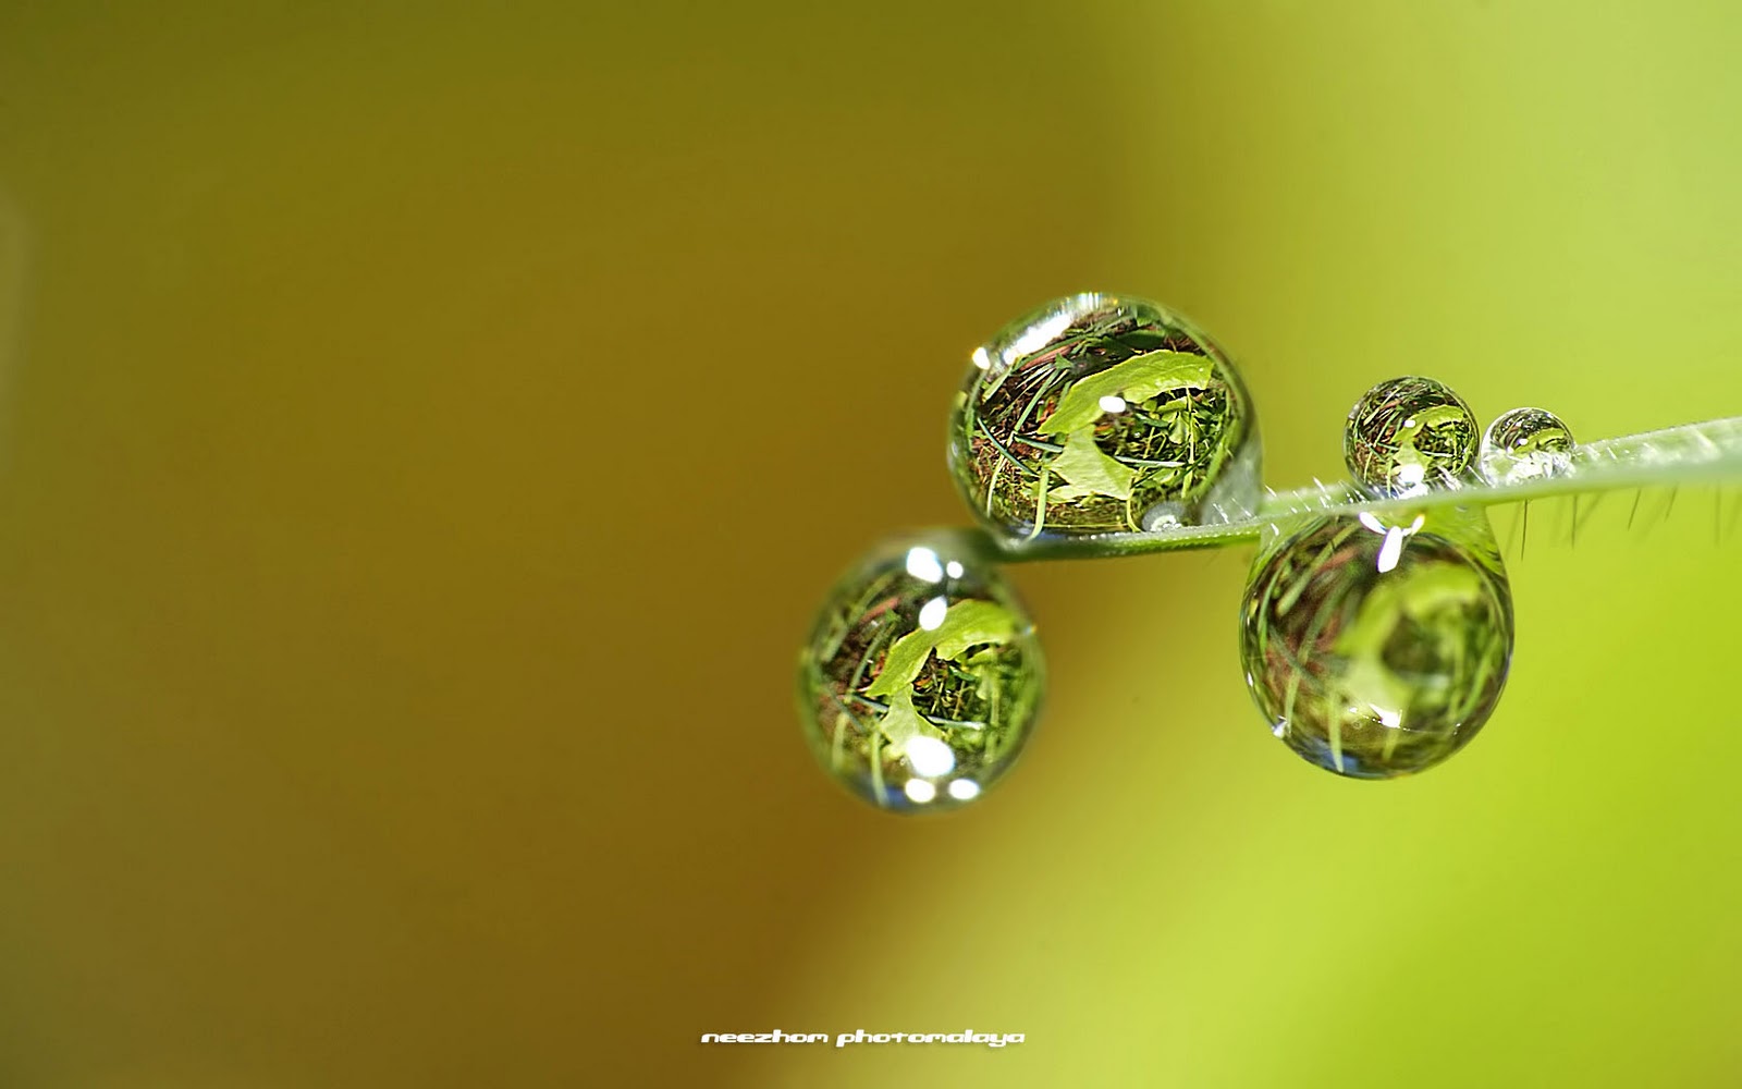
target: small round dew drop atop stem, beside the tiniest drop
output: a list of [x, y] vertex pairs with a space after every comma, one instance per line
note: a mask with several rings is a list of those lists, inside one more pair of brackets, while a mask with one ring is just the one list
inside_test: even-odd
[[1463, 481], [1475, 462], [1475, 413], [1432, 378], [1381, 382], [1348, 409], [1343, 460], [1371, 495], [1421, 495]]

